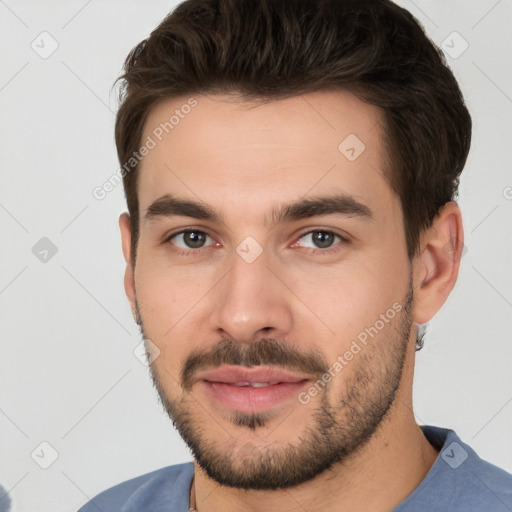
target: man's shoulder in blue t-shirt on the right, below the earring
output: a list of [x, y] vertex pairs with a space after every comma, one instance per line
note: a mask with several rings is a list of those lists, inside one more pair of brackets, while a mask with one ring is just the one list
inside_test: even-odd
[[453, 430], [422, 427], [439, 450], [420, 486], [395, 509], [451, 512], [510, 512], [512, 475], [481, 459]]

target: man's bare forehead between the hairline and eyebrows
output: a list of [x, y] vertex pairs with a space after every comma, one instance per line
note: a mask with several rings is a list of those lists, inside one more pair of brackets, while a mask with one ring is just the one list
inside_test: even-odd
[[166, 100], [144, 126], [140, 212], [166, 193], [238, 216], [331, 192], [386, 207], [397, 198], [384, 178], [383, 136], [381, 111], [346, 91]]

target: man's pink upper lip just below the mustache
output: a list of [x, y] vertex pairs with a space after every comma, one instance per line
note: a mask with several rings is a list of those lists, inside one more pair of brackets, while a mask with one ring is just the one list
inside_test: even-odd
[[281, 368], [255, 366], [246, 368], [242, 366], [221, 366], [214, 370], [202, 372], [197, 380], [206, 380], [209, 382], [221, 382], [225, 384], [234, 384], [237, 382], [301, 382], [309, 380], [310, 376], [292, 373]]

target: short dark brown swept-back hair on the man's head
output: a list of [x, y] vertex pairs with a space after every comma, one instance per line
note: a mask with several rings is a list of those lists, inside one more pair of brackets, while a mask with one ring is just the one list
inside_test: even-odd
[[133, 262], [138, 165], [127, 162], [162, 100], [234, 92], [269, 101], [338, 88], [380, 107], [410, 259], [454, 199], [470, 147], [471, 117], [442, 52], [389, 0], [186, 0], [130, 52], [118, 80], [115, 138]]

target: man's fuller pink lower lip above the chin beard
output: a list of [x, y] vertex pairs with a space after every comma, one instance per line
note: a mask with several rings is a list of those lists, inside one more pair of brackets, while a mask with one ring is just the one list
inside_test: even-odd
[[296, 398], [308, 382], [308, 380], [281, 382], [259, 388], [204, 380], [198, 384], [227, 409], [235, 409], [240, 412], [258, 412]]

